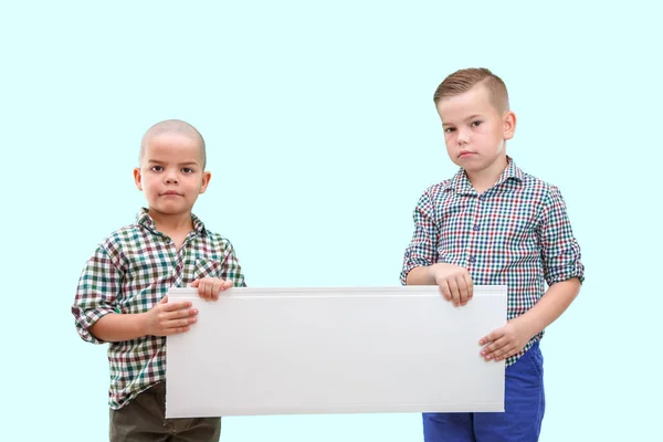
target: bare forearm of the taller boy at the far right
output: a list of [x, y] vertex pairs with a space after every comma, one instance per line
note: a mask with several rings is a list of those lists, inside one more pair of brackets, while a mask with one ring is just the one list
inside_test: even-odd
[[561, 316], [579, 292], [580, 281], [577, 277], [552, 284], [534, 307], [514, 320], [522, 323], [528, 335], [534, 336]]

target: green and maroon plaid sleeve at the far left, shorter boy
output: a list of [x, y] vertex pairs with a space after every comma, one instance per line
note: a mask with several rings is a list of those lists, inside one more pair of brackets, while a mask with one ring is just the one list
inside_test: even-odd
[[104, 344], [90, 333], [90, 327], [107, 314], [116, 313], [115, 301], [122, 288], [122, 272], [113, 263], [106, 249], [99, 245], [83, 269], [72, 306], [76, 332], [83, 340]]

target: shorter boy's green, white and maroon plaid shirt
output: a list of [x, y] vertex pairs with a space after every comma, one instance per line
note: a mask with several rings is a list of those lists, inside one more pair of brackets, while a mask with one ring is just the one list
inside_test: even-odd
[[[206, 230], [191, 215], [193, 230], [178, 251], [157, 231], [147, 209], [136, 223], [112, 233], [90, 257], [72, 307], [76, 330], [86, 341], [104, 344], [88, 332], [110, 313], [144, 313], [170, 287], [185, 287], [196, 278], [211, 276], [244, 286], [244, 276], [231, 243]], [[166, 376], [166, 338], [143, 336], [109, 343], [110, 388], [108, 404], [119, 409]]]

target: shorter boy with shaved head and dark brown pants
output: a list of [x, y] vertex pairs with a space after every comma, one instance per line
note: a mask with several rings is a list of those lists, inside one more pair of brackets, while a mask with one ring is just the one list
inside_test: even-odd
[[208, 301], [244, 286], [232, 244], [191, 213], [210, 182], [206, 146], [188, 123], [150, 127], [140, 144], [136, 187], [148, 208], [106, 238], [87, 261], [72, 314], [78, 335], [108, 343], [112, 442], [218, 441], [220, 418], [165, 419], [166, 336], [194, 326], [190, 302], [167, 303], [170, 287], [198, 287]]

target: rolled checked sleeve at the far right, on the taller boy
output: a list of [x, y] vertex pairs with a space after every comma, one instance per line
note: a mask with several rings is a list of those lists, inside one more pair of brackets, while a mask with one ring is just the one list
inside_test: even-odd
[[550, 188], [538, 229], [544, 261], [544, 276], [548, 285], [578, 277], [585, 281], [580, 262], [580, 246], [573, 238], [564, 198], [557, 187]]

